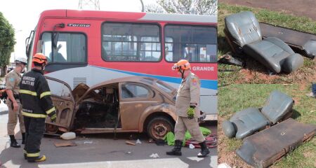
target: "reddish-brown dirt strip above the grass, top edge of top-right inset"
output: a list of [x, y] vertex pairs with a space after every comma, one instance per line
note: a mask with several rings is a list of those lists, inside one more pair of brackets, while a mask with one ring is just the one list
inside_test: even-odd
[[269, 10], [291, 13], [293, 15], [306, 16], [316, 20], [316, 1], [315, 0], [220, 0], [219, 2], [230, 3], [240, 6], [249, 6], [254, 8], [266, 8]]

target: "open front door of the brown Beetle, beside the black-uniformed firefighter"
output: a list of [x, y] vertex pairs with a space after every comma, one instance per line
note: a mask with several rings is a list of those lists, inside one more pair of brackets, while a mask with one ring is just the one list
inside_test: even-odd
[[72, 90], [70, 85], [58, 80], [46, 76], [48, 86], [51, 90], [51, 99], [56, 109], [57, 118], [55, 123], [51, 123], [51, 120], [46, 120], [46, 123], [63, 127], [69, 131], [72, 126], [73, 114], [74, 114], [74, 97], [72, 96]]

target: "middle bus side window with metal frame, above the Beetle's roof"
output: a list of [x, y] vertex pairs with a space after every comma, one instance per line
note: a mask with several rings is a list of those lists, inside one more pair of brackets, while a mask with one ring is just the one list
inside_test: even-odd
[[162, 57], [157, 25], [105, 22], [102, 58], [114, 62], [159, 62]]

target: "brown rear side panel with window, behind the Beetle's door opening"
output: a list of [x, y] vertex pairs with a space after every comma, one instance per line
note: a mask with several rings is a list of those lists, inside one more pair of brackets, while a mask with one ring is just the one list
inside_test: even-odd
[[119, 83], [119, 113], [122, 130], [138, 130], [139, 118], [153, 101], [152, 89], [141, 83]]

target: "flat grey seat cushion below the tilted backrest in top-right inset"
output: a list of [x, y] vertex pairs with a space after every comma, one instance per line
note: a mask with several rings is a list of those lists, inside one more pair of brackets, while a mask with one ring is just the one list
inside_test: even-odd
[[[289, 48], [289, 45], [275, 37], [268, 37], [260, 42], [246, 44], [242, 50], [275, 73], [281, 72], [284, 60], [295, 54]], [[301, 62], [298, 62], [298, 64], [301, 64]]]

